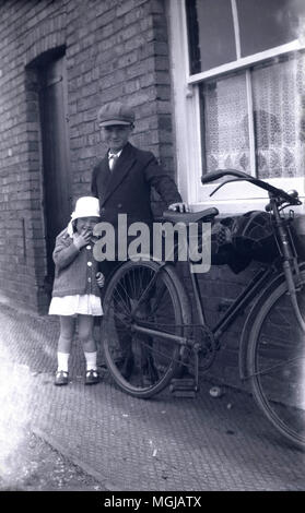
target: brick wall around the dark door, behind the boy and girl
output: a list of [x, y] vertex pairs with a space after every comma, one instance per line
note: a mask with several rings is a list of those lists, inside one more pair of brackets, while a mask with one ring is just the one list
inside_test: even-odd
[[[0, 4], [0, 297], [46, 311], [35, 62], [66, 47], [73, 200], [90, 191], [101, 143], [96, 110], [128, 100], [133, 143], [173, 170], [163, 0], [7, 0]], [[154, 198], [157, 200], [157, 198]], [[156, 203], [155, 203], [156, 204]]]

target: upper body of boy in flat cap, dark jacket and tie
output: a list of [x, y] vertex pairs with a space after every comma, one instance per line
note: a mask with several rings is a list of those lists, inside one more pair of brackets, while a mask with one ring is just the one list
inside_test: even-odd
[[[117, 230], [118, 214], [127, 214], [127, 227], [136, 222], [152, 226], [152, 188], [168, 208], [186, 211], [175, 181], [154, 155], [130, 144], [133, 110], [120, 102], [112, 102], [98, 110], [97, 118], [103, 140], [108, 144], [107, 154], [93, 170], [91, 184], [93, 195], [99, 200], [102, 220]], [[103, 262], [106, 276], [113, 271], [113, 264]]]

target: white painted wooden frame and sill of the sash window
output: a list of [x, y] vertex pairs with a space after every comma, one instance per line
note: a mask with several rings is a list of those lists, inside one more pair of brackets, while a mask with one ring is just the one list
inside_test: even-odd
[[[274, 57], [296, 52], [302, 49], [304, 50], [305, 48], [305, 40], [294, 39], [288, 44], [251, 56], [241, 57], [236, 1], [231, 0], [231, 3], [237, 59], [208, 71], [190, 74], [185, 0], [169, 0], [168, 29], [171, 73], [174, 91], [177, 181], [185, 201], [191, 205], [192, 210], [216, 205], [221, 213], [246, 212], [251, 208], [263, 208], [268, 198], [263, 191], [246, 182], [241, 182], [238, 189], [236, 189], [236, 182], [225, 186], [215, 195], [210, 198], [209, 194], [215, 189], [216, 184], [201, 184], [202, 136], [198, 84], [208, 79], [218, 79], [226, 74], [232, 74], [234, 71], [245, 70], [247, 90], [249, 92], [251, 87], [250, 67], [268, 61]], [[249, 117], [253, 117], [250, 105], [251, 95], [248, 94], [247, 97], [248, 114]], [[255, 136], [253, 127], [254, 124], [249, 119], [251, 146], [250, 174], [255, 176]], [[296, 189], [300, 196], [305, 198], [305, 170], [303, 177], [270, 178], [267, 181], [284, 190]], [[305, 212], [305, 208], [302, 205], [297, 207], [296, 211]]]

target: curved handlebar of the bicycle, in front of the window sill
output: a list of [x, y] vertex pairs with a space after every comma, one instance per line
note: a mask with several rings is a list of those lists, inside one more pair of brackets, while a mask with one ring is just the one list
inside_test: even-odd
[[237, 169], [218, 169], [216, 171], [209, 172], [206, 177], [201, 178], [201, 182], [204, 183], [210, 183], [214, 180], [218, 180], [219, 178], [222, 178], [226, 175], [231, 175], [233, 177], [236, 177], [239, 180], [246, 180], [253, 183], [254, 186], [260, 187], [260, 189], [266, 190], [268, 193], [270, 193], [272, 196], [275, 198], [282, 198], [286, 202], [289, 202], [291, 205], [301, 205], [302, 202], [298, 200], [298, 198], [293, 198], [291, 194], [288, 192], [283, 191], [282, 189], [278, 189], [277, 187], [270, 186], [270, 183], [267, 183], [266, 181], [259, 180], [258, 178], [251, 177], [250, 175], [247, 175], [244, 171], [238, 171]]

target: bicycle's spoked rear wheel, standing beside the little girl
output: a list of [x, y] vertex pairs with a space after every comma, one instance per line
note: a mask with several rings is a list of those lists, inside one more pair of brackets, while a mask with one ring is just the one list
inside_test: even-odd
[[183, 336], [188, 323], [187, 296], [172, 269], [161, 270], [153, 261], [122, 264], [107, 287], [102, 324], [106, 363], [118, 386], [142, 398], [161, 392], [183, 350], [166, 335]]

